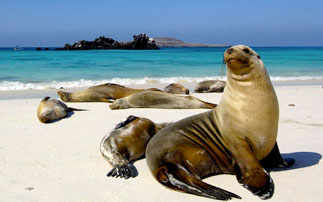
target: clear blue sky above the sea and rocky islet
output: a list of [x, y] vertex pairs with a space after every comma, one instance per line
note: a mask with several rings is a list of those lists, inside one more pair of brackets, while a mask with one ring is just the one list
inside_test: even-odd
[[0, 0], [0, 47], [146, 33], [185, 42], [323, 46], [322, 0]]

